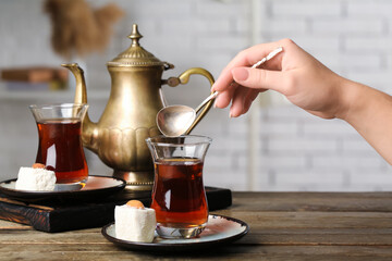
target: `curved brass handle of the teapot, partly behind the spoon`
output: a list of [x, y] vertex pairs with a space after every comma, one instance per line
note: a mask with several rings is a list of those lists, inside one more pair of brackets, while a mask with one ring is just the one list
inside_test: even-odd
[[[210, 86], [212, 87], [213, 83], [215, 83], [215, 79], [213, 79], [213, 76], [210, 72], [208, 72], [207, 70], [205, 69], [201, 69], [201, 67], [192, 67], [192, 69], [188, 69], [186, 70], [185, 72], [183, 72], [179, 77], [170, 77], [168, 80], [167, 80], [167, 84], [171, 87], [175, 87], [177, 86], [179, 84], [187, 84], [188, 80], [189, 80], [189, 76], [192, 74], [199, 74], [199, 75], [203, 75], [205, 76], [209, 83], [210, 83]], [[213, 94], [213, 91], [211, 91], [211, 94]], [[203, 108], [201, 112], [196, 116], [194, 123], [191, 125], [191, 127], [185, 132], [185, 134], [189, 134], [192, 132], [192, 129], [194, 129], [194, 127], [201, 121], [201, 119], [207, 114], [207, 112], [211, 109], [212, 107], [212, 102], [213, 102], [213, 99], [211, 99], [210, 101], [208, 101], [206, 103], [206, 105]]]

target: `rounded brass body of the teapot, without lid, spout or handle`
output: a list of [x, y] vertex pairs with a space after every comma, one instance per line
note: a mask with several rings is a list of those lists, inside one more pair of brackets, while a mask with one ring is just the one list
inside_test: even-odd
[[[156, 115], [163, 67], [110, 67], [111, 92], [98, 122], [97, 154], [114, 175], [152, 172], [145, 139], [159, 135]], [[128, 178], [126, 178], [128, 179]]]

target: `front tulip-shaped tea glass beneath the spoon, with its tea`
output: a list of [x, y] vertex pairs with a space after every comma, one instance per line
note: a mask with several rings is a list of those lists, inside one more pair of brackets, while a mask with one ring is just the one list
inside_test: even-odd
[[164, 238], [198, 236], [208, 221], [203, 164], [211, 139], [157, 136], [146, 139], [155, 165], [151, 208]]

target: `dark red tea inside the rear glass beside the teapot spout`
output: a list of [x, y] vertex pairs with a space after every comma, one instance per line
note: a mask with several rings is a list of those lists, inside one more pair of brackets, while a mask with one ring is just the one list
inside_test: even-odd
[[87, 179], [88, 166], [81, 140], [79, 120], [38, 122], [39, 145], [37, 163], [54, 171], [57, 183], [77, 183]]

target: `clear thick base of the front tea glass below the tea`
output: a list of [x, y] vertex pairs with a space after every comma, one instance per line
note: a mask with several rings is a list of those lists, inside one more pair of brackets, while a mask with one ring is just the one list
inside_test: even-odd
[[160, 223], [157, 224], [157, 233], [162, 238], [194, 238], [200, 235], [207, 223], [192, 227], [169, 227]]

